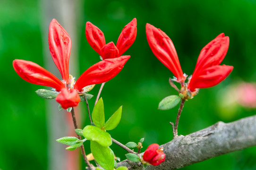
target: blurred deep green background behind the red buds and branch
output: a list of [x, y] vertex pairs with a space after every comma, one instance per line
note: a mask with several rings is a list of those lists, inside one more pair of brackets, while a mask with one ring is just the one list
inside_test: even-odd
[[[47, 170], [48, 157], [55, 157], [49, 155], [47, 149], [51, 133], [51, 129], [47, 128], [51, 117], [47, 115], [58, 117], [64, 113], [52, 111], [46, 114], [49, 111], [45, 109], [46, 101], [34, 93], [44, 87], [25, 82], [12, 67], [14, 59], [31, 60], [43, 67], [48, 62], [43, 55], [43, 46], [48, 46], [48, 35], [45, 33], [53, 17], [59, 22], [65, 21], [65, 17], [45, 19], [47, 9], [43, 9], [42, 1], [0, 1], [0, 170]], [[256, 82], [256, 0], [74, 0], [74, 3], [79, 8], [75, 8], [73, 13], [77, 23], [73, 26], [77, 33], [77, 45], [72, 48], [77, 48], [79, 64], [73, 69], [77, 69], [79, 75], [99, 61], [98, 54], [85, 39], [86, 21], [102, 30], [107, 43], [113, 41], [116, 44], [122, 28], [134, 17], [137, 18], [136, 41], [124, 53], [131, 55], [131, 58], [102, 91], [106, 119], [123, 105], [121, 122], [110, 131], [111, 136], [121, 143], [138, 142], [145, 137], [142, 149], [145, 151], [149, 144], [169, 142], [172, 139], [169, 121], [175, 122], [179, 108], [157, 110], [158, 103], [164, 97], [177, 92], [168, 83], [172, 73], [156, 59], [148, 46], [146, 23], [161, 28], [169, 35], [182, 70], [188, 75], [193, 73], [200, 50], [208, 42], [220, 33], [230, 37], [229, 51], [222, 64], [234, 66], [233, 72], [221, 84], [201, 89], [193, 100], [185, 103], [179, 121], [180, 135], [188, 135], [217, 121], [230, 122], [256, 114], [255, 109], [237, 103], [220, 105], [230, 85], [242, 81]], [[64, 26], [64, 23], [60, 24]], [[50, 58], [49, 50], [46, 56]], [[96, 96], [99, 88], [100, 85], [96, 85], [90, 93]], [[91, 111], [94, 100], [89, 101]], [[84, 127], [89, 124], [85, 103], [80, 103], [79, 107]], [[52, 140], [59, 137], [62, 136]], [[85, 150], [89, 153], [89, 142], [85, 143]], [[121, 159], [125, 158], [126, 152], [121, 148], [115, 144], [111, 148]], [[182, 169], [255, 170], [255, 160], [256, 147], [253, 147]]]

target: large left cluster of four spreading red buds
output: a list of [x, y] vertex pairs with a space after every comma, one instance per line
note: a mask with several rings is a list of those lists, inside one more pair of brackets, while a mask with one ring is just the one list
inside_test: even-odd
[[83, 93], [83, 88], [87, 85], [101, 84], [116, 76], [130, 56], [121, 56], [115, 59], [106, 59], [88, 68], [82, 76], [73, 83], [68, 74], [68, 61], [71, 50], [71, 39], [65, 29], [52, 19], [49, 26], [49, 48], [51, 57], [60, 71], [62, 81], [51, 74], [46, 69], [32, 61], [15, 59], [13, 61], [14, 70], [17, 74], [29, 83], [45, 85], [60, 92], [56, 101], [63, 109], [77, 106], [80, 102], [79, 93]]

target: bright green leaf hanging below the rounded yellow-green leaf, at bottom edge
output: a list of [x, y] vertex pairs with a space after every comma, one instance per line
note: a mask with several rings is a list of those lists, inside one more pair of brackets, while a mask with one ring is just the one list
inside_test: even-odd
[[110, 147], [102, 147], [97, 142], [91, 141], [91, 152], [94, 155], [95, 161], [105, 170], [114, 169], [114, 153]]

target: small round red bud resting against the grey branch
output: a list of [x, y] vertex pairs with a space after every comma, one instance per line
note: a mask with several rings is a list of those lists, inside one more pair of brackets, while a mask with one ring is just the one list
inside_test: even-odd
[[162, 148], [158, 149], [158, 147], [158, 144], [150, 144], [143, 154], [143, 160], [154, 166], [162, 163], [165, 160], [165, 154], [162, 152]]

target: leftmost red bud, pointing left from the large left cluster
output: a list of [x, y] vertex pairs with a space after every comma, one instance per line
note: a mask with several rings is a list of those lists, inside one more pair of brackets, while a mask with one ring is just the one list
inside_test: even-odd
[[53, 87], [57, 91], [65, 87], [56, 76], [32, 61], [15, 59], [12, 65], [17, 74], [29, 83]]

